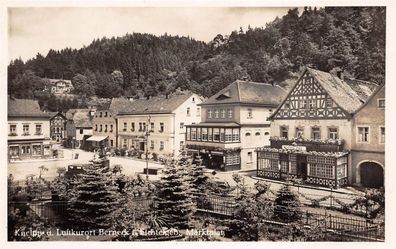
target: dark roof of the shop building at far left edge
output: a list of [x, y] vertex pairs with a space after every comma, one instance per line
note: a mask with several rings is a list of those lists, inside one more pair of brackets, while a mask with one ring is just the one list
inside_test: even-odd
[[37, 100], [8, 98], [8, 117], [49, 119], [50, 116], [40, 110]]

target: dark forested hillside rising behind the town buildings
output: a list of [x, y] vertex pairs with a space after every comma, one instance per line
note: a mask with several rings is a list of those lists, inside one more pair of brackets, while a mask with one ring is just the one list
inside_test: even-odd
[[141, 97], [177, 88], [210, 96], [236, 79], [285, 84], [304, 66], [382, 84], [385, 14], [381, 7], [307, 7], [209, 43], [166, 34], [97, 39], [81, 49], [13, 60], [9, 94], [48, 98], [41, 78], [63, 78], [85, 96]]

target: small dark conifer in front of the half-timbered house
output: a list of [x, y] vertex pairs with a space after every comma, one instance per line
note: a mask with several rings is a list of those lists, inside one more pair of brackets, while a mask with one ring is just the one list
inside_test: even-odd
[[298, 196], [285, 184], [275, 199], [274, 218], [285, 223], [298, 221], [302, 216], [300, 206]]

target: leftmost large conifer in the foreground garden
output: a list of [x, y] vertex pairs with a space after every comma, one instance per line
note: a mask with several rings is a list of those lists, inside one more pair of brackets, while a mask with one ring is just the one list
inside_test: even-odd
[[84, 168], [70, 200], [69, 214], [74, 225], [81, 229], [109, 228], [111, 213], [117, 208], [117, 187], [106, 159], [94, 161]]

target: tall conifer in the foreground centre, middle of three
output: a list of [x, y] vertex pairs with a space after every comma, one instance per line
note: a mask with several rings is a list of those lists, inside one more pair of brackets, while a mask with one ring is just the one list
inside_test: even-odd
[[169, 159], [163, 170], [155, 198], [158, 216], [169, 227], [184, 229], [194, 212], [191, 186], [189, 183], [189, 159], [181, 155], [178, 160]]

